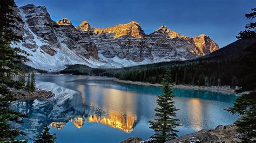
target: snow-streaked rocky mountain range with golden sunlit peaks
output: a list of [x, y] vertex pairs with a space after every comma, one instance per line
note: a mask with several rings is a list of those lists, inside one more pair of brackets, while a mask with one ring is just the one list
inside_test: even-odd
[[[190, 60], [219, 49], [207, 35], [186, 37], [161, 26], [145, 34], [138, 22], [93, 28], [75, 27], [67, 18], [53, 22], [44, 6], [28, 4], [16, 9], [24, 23], [18, 43], [31, 56], [26, 65], [56, 71], [65, 65], [119, 68], [161, 61]], [[12, 44], [14, 46], [14, 44]]]

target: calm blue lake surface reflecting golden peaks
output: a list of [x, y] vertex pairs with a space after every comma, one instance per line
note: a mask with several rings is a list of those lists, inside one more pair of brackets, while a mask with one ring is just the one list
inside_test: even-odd
[[[33, 140], [45, 124], [57, 142], [120, 142], [129, 137], [149, 139], [161, 87], [114, 82], [113, 78], [36, 75], [39, 89], [52, 91], [47, 99], [20, 101], [14, 109], [29, 115], [19, 126]], [[174, 89], [179, 109], [177, 127], [184, 135], [203, 128], [232, 124], [238, 116], [224, 111], [237, 96], [211, 91]], [[24, 137], [23, 137], [24, 138]]]

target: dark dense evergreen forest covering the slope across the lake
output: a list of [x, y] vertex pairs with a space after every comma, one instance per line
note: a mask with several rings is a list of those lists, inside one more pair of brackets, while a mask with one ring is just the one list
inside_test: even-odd
[[60, 71], [61, 74], [113, 76], [120, 80], [161, 83], [166, 70], [176, 84], [199, 86], [242, 86], [246, 80], [243, 74], [256, 73], [244, 71], [245, 62], [255, 61], [255, 39], [240, 39], [218, 51], [188, 61], [153, 63], [150, 65], [119, 69], [93, 69], [73, 65]]

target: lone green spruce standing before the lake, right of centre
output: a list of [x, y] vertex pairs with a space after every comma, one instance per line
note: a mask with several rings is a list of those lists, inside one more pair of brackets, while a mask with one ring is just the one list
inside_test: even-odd
[[178, 131], [174, 130], [175, 127], [179, 126], [176, 119], [176, 109], [173, 101], [172, 87], [174, 82], [172, 82], [171, 75], [165, 76], [163, 79], [164, 92], [162, 95], [158, 96], [157, 104], [158, 107], [156, 111], [156, 119], [154, 121], [150, 120], [150, 128], [155, 132], [150, 138], [156, 140], [157, 142], [165, 142], [170, 139], [178, 137], [176, 134]]

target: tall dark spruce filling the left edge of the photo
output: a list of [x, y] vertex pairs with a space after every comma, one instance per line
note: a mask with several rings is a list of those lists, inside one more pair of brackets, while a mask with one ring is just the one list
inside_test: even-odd
[[4, 0], [0, 3], [0, 142], [14, 140], [22, 134], [10, 121], [22, 123], [26, 117], [22, 113], [10, 109], [10, 104], [16, 101], [13, 93], [8, 89], [24, 88], [19, 81], [8, 78], [7, 75], [17, 75], [22, 69], [16, 63], [26, 60], [26, 52], [18, 47], [11, 48], [11, 42], [18, 42], [22, 37], [16, 35], [18, 23], [22, 20], [16, 15], [14, 0]]

